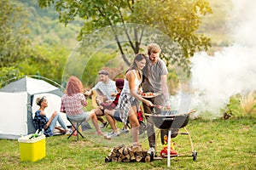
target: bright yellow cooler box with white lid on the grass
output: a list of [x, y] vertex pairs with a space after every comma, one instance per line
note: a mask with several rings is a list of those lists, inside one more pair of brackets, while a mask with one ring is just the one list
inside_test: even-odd
[[29, 139], [32, 134], [18, 139], [20, 144], [20, 161], [38, 161], [45, 157], [45, 136]]

